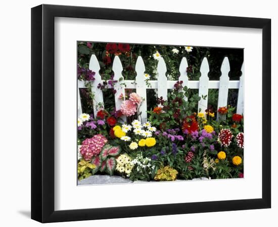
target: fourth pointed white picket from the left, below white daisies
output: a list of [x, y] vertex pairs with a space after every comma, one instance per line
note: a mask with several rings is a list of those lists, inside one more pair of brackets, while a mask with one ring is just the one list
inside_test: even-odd
[[164, 100], [167, 100], [167, 77], [166, 77], [166, 64], [163, 58], [158, 60], [157, 65], [157, 97], [163, 97]]

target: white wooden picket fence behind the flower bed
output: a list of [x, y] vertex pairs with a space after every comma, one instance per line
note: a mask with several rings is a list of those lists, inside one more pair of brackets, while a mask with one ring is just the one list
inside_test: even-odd
[[[208, 105], [208, 89], [219, 89], [218, 94], [218, 108], [222, 106], [227, 105], [228, 100], [228, 89], [239, 89], [238, 93], [238, 103], [237, 103], [237, 113], [243, 114], [244, 110], [244, 64], [242, 65], [242, 76], [240, 77], [240, 80], [238, 81], [229, 81], [228, 73], [230, 70], [229, 67], [229, 61], [228, 58], [225, 57], [221, 66], [221, 77], [219, 81], [215, 80], [209, 80], [208, 78], [208, 72], [209, 72], [209, 65], [206, 58], [203, 59], [203, 62], [201, 64], [200, 72], [201, 77], [199, 81], [192, 81], [188, 79], [187, 76], [187, 59], [182, 58], [179, 66], [179, 72], [180, 76], [178, 78], [178, 81], [183, 81], [183, 86], [187, 86], [188, 88], [192, 89], [199, 89], [199, 96], [207, 96], [207, 98], [201, 100], [198, 103], [198, 110], [200, 109], [200, 112], [205, 113], [205, 109], [207, 109]], [[89, 63], [89, 69], [93, 72], [96, 72], [95, 75], [95, 81], [91, 81], [92, 88], [91, 91], [95, 93], [95, 103], [103, 103], [103, 93], [102, 90], [97, 88], [99, 83], [103, 83], [99, 71], [100, 71], [100, 65], [98, 62], [98, 59], [96, 55], [91, 55], [90, 63]], [[160, 58], [158, 61], [157, 66], [157, 72], [158, 77], [157, 80], [149, 80], [149, 85], [146, 84], [144, 73], [145, 73], [145, 65], [143, 62], [143, 59], [141, 56], [138, 56], [137, 62], [135, 65], [135, 71], [136, 71], [136, 78], [135, 81], [133, 80], [124, 80], [122, 76], [122, 64], [118, 56], [115, 56], [112, 70], [114, 72], [114, 80], [118, 81], [114, 85], [114, 89], [116, 90], [115, 93], [115, 107], [116, 110], [119, 110], [121, 108], [121, 104], [123, 100], [119, 99], [119, 96], [121, 94], [125, 94], [125, 88], [130, 89], [136, 89], [136, 93], [139, 94], [141, 97], [145, 99], [145, 101], [142, 102], [140, 111], [142, 112], [142, 122], [147, 121], [147, 89], [157, 89], [158, 97], [163, 97], [164, 100], [167, 100], [167, 89], [173, 89], [174, 84], [177, 81], [173, 80], [167, 80], [166, 77], [166, 64], [163, 60], [163, 58]], [[120, 79], [122, 78], [122, 79]], [[82, 113], [82, 107], [81, 107], [81, 99], [80, 99], [80, 93], [79, 88], [85, 88], [85, 82], [84, 81], [78, 81], [78, 116]], [[94, 105], [94, 113], [96, 115], [98, 109], [97, 106]], [[219, 115], [217, 113], [217, 119], [219, 118]], [[126, 119], [123, 118], [125, 121]]]

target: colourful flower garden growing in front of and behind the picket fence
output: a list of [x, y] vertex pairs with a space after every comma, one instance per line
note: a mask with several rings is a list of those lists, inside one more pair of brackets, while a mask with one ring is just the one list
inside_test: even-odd
[[[95, 73], [87, 68], [87, 56], [90, 51], [100, 51], [101, 47], [94, 48], [90, 42], [80, 42], [80, 47], [78, 79], [93, 81]], [[111, 59], [115, 55], [123, 55], [123, 62], [127, 62], [123, 74], [131, 71], [128, 75], [132, 77], [132, 60], [128, 60], [130, 56], [135, 57], [136, 47], [108, 43], [100, 51], [105, 68], [101, 73], [107, 82], [99, 84], [98, 88], [104, 94], [107, 92], [105, 100], [108, 102], [94, 103], [90, 83], [88, 89], [81, 92], [84, 108], [77, 119], [78, 180], [92, 175], [115, 175], [130, 181], [243, 178], [244, 119], [243, 115], [236, 113], [233, 103], [219, 108], [212, 104], [205, 113], [199, 112], [196, 104], [201, 97], [183, 86], [183, 81], [177, 81], [174, 89], [168, 90], [167, 100], [152, 95], [147, 121], [142, 121], [140, 112], [141, 104], [147, 100], [135, 90], [119, 97], [122, 100], [120, 109], [113, 107], [113, 103], [109, 102], [115, 83], [111, 74]], [[153, 54], [149, 56], [154, 65], [163, 53], [159, 48], [154, 47]], [[167, 48], [170, 49], [164, 50], [165, 57], [171, 54], [177, 58], [178, 54], [182, 54], [179, 48]], [[193, 54], [194, 48], [185, 47], [184, 54]], [[142, 51], [144, 49], [141, 48], [137, 53]], [[195, 56], [198, 56], [197, 50]], [[193, 76], [198, 74], [194, 74], [195, 68], [197, 66], [191, 65], [188, 69]], [[152, 66], [146, 69], [148, 72], [144, 76], [148, 81], [155, 76], [155, 72]], [[171, 75], [175, 76], [174, 69]], [[95, 116], [90, 110], [92, 105], [98, 105]]]

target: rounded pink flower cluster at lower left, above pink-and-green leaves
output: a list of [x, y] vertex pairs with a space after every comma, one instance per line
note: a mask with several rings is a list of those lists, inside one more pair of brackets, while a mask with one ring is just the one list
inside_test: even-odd
[[92, 156], [98, 156], [106, 143], [107, 139], [101, 134], [95, 135], [92, 138], [87, 138], [82, 142], [80, 153], [83, 158], [88, 161]]

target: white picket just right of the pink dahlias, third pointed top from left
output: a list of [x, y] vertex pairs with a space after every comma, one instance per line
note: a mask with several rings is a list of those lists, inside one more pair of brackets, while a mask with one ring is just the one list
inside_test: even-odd
[[136, 65], [135, 65], [135, 71], [136, 71], [136, 93], [139, 94], [143, 99], [139, 111], [141, 112], [141, 120], [142, 123], [146, 123], [147, 121], [147, 91], [146, 91], [146, 80], [144, 77], [145, 73], [145, 65], [142, 59], [142, 56], [138, 56]]

